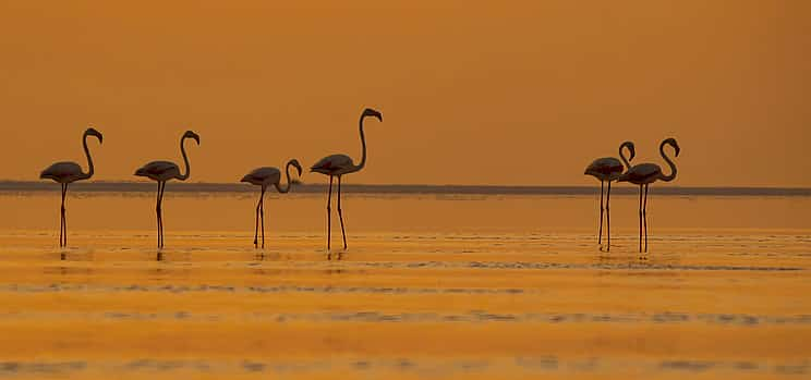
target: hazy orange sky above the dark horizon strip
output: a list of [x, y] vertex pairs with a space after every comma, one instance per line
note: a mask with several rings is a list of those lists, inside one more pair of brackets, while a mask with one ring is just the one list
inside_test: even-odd
[[675, 136], [676, 184], [811, 186], [810, 21], [802, 0], [0, 0], [0, 179], [84, 166], [89, 123], [99, 180], [180, 162], [186, 128], [192, 181], [360, 160], [374, 107], [352, 183], [593, 184], [622, 140], [662, 162]]

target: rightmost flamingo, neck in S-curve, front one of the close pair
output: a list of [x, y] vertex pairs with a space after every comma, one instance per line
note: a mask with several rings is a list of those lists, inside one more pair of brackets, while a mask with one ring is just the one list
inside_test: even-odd
[[[662, 140], [659, 144], [659, 155], [665, 159], [667, 164], [670, 167], [670, 174], [665, 175], [662, 168], [655, 163], [640, 163], [631, 167], [625, 173], [617, 177], [617, 182], [630, 182], [634, 185], [639, 185], [639, 252], [642, 253], [642, 228], [644, 225], [645, 235], [645, 247], [644, 252], [647, 253], [647, 186], [656, 181], [670, 182], [676, 180], [676, 164], [670, 158], [665, 155], [665, 145], [669, 145], [675, 150], [675, 156], [679, 157], [681, 148], [679, 143], [675, 138], [669, 137]], [[642, 195], [644, 193], [644, 196]], [[643, 200], [644, 199], [644, 200]]]

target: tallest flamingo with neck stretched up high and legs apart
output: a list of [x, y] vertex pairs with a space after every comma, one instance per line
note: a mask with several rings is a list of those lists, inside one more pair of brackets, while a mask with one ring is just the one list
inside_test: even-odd
[[366, 137], [363, 134], [363, 121], [366, 118], [376, 118], [383, 122], [383, 114], [371, 108], [366, 108], [361, 113], [361, 119], [358, 122], [361, 131], [361, 145], [363, 146], [363, 154], [361, 156], [361, 162], [354, 164], [352, 159], [347, 155], [331, 155], [322, 158], [310, 168], [311, 172], [329, 175], [329, 191], [327, 195], [327, 252], [330, 247], [331, 237], [331, 199], [332, 199], [332, 179], [338, 177], [338, 218], [341, 221], [341, 235], [343, 236], [343, 249], [347, 249], [347, 233], [343, 228], [343, 211], [341, 210], [341, 177], [344, 174], [354, 173], [361, 171], [366, 166]]

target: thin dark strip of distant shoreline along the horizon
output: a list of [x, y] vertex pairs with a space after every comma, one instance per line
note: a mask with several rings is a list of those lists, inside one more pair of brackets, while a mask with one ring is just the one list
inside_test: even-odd
[[[185, 193], [253, 193], [256, 186], [244, 183], [184, 183], [170, 182], [172, 192]], [[154, 182], [78, 182], [71, 184], [76, 192], [88, 193], [150, 193]], [[486, 186], [486, 185], [363, 185], [347, 184], [343, 188], [355, 194], [403, 194], [403, 195], [594, 195], [600, 186]], [[52, 182], [0, 181], [0, 193], [55, 192], [59, 186]], [[325, 193], [326, 184], [300, 184], [296, 193]], [[651, 188], [657, 195], [671, 196], [777, 196], [809, 197], [806, 187], [697, 187], [663, 185]], [[615, 195], [638, 194], [636, 186], [615, 186]]]

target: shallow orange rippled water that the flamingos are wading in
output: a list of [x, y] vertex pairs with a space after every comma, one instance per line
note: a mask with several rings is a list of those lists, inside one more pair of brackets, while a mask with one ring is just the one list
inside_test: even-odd
[[[811, 199], [0, 195], [0, 377], [804, 378]], [[340, 230], [334, 220], [334, 244]], [[336, 235], [337, 233], [337, 235]], [[62, 257], [64, 259], [62, 259]]]

